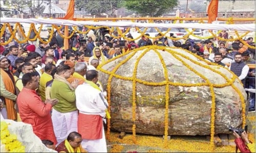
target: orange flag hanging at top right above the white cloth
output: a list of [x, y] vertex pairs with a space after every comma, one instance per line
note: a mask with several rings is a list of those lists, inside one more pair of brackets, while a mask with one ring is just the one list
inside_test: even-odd
[[208, 23], [211, 23], [212, 21], [215, 21], [218, 17], [218, 4], [219, 0], [211, 0], [210, 4], [208, 6]]

